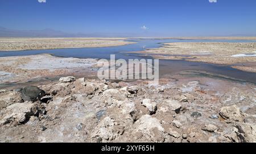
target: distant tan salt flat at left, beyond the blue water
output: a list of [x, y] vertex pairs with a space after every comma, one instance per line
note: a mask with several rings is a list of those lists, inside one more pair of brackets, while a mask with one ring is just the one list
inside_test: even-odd
[[0, 38], [0, 51], [110, 47], [131, 44], [122, 38]]

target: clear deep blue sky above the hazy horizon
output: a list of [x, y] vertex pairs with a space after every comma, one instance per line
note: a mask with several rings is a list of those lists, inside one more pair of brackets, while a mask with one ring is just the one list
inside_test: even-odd
[[46, 1], [0, 0], [0, 26], [152, 36], [256, 35], [255, 0]]

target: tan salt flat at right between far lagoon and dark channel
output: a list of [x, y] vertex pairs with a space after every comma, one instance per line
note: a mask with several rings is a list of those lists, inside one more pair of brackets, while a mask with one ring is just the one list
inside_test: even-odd
[[256, 43], [165, 43], [162, 48], [136, 53], [146, 53], [155, 59], [232, 65], [236, 69], [256, 72]]

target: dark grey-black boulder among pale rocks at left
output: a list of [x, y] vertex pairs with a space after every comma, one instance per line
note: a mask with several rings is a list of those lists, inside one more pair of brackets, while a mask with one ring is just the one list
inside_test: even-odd
[[40, 98], [42, 98], [46, 92], [44, 90], [39, 89], [36, 86], [26, 86], [23, 88], [20, 93], [22, 94], [23, 101], [38, 101]]

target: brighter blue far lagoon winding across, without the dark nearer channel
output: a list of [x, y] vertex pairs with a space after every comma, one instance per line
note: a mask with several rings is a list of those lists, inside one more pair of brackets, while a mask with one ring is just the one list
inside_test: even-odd
[[77, 57], [77, 58], [93, 58], [93, 59], [110, 59], [110, 55], [114, 54], [116, 59], [139, 59], [138, 54], [127, 54], [122, 52], [143, 51], [147, 48], [159, 48], [162, 43], [172, 42], [255, 42], [255, 40], [177, 40], [177, 39], [129, 39], [129, 41], [137, 42], [135, 44], [121, 45], [115, 47], [99, 47], [99, 48], [65, 48], [65, 49], [40, 49], [29, 51], [1, 51], [0, 57], [5, 56], [28, 56], [42, 53], [49, 53], [60, 57]]

